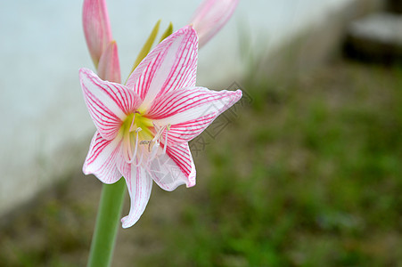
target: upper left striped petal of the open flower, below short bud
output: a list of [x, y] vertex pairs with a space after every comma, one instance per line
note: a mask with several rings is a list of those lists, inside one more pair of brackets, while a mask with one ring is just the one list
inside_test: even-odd
[[89, 69], [80, 69], [79, 79], [86, 107], [99, 134], [104, 139], [113, 139], [127, 114], [140, 104], [140, 98], [125, 85], [103, 81]]

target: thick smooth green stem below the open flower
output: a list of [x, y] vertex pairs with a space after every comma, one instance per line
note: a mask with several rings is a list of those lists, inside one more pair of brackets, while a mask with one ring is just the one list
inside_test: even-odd
[[125, 190], [124, 178], [113, 184], [103, 184], [87, 267], [111, 265]]

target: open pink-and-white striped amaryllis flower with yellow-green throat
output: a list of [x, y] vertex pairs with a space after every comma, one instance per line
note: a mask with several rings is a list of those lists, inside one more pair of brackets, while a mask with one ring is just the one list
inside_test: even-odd
[[242, 97], [240, 90], [195, 86], [197, 46], [192, 27], [179, 29], [144, 58], [127, 85], [79, 70], [97, 129], [83, 171], [105, 183], [125, 178], [131, 207], [121, 220], [123, 228], [143, 214], [152, 180], [169, 191], [195, 184], [188, 142]]

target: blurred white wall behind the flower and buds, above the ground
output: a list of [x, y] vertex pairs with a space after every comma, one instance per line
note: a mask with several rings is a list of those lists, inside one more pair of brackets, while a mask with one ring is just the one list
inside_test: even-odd
[[[248, 53], [268, 53], [351, 1], [242, 0], [234, 18], [201, 50], [198, 84], [224, 89], [242, 77]], [[156, 20], [162, 19], [162, 28], [170, 20], [181, 28], [200, 2], [108, 1], [122, 78]], [[81, 5], [81, 0], [0, 2], [0, 214], [70, 168], [80, 168], [86, 156], [94, 125], [78, 69], [93, 65]], [[241, 50], [239, 40], [250, 49]]]

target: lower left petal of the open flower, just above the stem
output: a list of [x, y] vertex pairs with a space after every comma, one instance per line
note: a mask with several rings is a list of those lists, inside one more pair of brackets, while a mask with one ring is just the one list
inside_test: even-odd
[[118, 182], [121, 174], [116, 166], [119, 160], [120, 141], [106, 140], [95, 132], [82, 168], [84, 174], [94, 174], [104, 183]]

